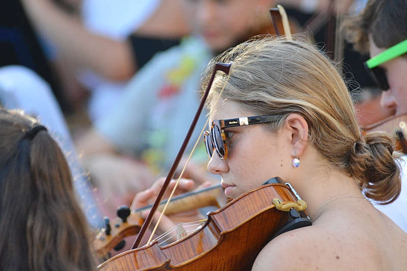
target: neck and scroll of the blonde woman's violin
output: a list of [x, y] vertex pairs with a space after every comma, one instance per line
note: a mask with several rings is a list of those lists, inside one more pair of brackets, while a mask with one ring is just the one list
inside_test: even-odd
[[[224, 205], [225, 197], [223, 194], [223, 188], [220, 185], [215, 185], [199, 191], [192, 191], [183, 195], [174, 197], [165, 214], [172, 215], [189, 210], [206, 207]], [[163, 200], [158, 210], [161, 212], [166, 200]], [[146, 206], [136, 210], [132, 210], [131, 214], [127, 217], [127, 221], [119, 217], [110, 220], [111, 230], [107, 235], [106, 231], [101, 231], [94, 241], [94, 249], [98, 257], [104, 257], [110, 250], [117, 246], [123, 238], [131, 235], [135, 235], [139, 232], [140, 227], [144, 220], [141, 218], [141, 212], [150, 209], [151, 206]]]

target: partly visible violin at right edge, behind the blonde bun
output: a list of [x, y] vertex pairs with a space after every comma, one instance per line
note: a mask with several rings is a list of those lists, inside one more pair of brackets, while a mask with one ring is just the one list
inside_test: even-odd
[[362, 134], [385, 131], [396, 139], [396, 149], [407, 154], [407, 113], [393, 115], [380, 122], [361, 128]]

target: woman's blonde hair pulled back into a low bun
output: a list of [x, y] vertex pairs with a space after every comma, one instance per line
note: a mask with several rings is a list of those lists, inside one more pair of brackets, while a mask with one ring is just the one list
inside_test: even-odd
[[[365, 195], [386, 204], [400, 194], [399, 167], [393, 139], [386, 133], [361, 135], [355, 108], [331, 61], [312, 45], [258, 37], [212, 59], [205, 87], [216, 62], [233, 62], [221, 99], [253, 115], [278, 114], [278, 130], [291, 113], [309, 126], [309, 142], [337, 168], [354, 176]], [[210, 110], [227, 76], [218, 73], [207, 101]]]

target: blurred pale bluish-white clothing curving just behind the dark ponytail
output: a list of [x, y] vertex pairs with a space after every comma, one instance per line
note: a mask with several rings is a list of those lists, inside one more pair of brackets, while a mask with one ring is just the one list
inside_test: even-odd
[[80, 206], [88, 222], [93, 227], [104, 225], [99, 214], [93, 187], [89, 176], [79, 164], [68, 125], [50, 85], [34, 71], [23, 66], [5, 66], [0, 68], [0, 105], [7, 109], [19, 109], [25, 114], [41, 120], [48, 133], [59, 144], [67, 156], [72, 172], [74, 190], [80, 198]]

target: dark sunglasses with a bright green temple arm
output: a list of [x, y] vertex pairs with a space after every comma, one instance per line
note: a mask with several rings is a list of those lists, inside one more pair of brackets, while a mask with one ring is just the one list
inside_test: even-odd
[[365, 68], [370, 72], [377, 85], [379, 85], [383, 91], [387, 91], [390, 86], [389, 82], [387, 81], [386, 70], [379, 67], [379, 65], [388, 62], [406, 52], [407, 40], [404, 40], [365, 62]]

